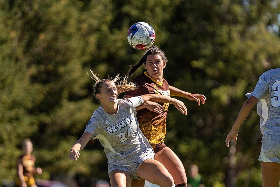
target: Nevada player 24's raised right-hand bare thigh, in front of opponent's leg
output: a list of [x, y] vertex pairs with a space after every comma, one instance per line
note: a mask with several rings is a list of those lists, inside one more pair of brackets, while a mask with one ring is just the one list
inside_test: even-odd
[[159, 161], [147, 159], [138, 168], [137, 176], [161, 187], [174, 185], [173, 178]]

